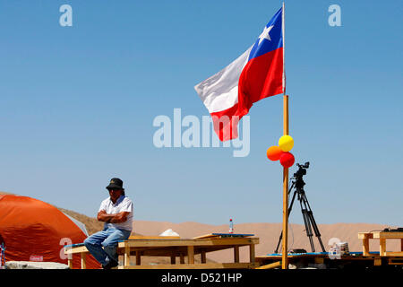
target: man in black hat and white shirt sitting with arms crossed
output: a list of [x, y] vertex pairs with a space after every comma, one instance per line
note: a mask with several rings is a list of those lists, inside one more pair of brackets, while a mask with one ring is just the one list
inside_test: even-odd
[[112, 178], [107, 190], [109, 197], [100, 204], [97, 216], [99, 222], [105, 222], [104, 229], [84, 240], [85, 247], [104, 269], [118, 265], [117, 242], [128, 239], [133, 228], [133, 203], [124, 196], [123, 181]]

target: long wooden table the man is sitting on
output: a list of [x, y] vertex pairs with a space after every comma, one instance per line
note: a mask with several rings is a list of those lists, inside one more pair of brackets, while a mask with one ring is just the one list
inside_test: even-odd
[[[117, 253], [124, 255], [124, 265], [119, 269], [209, 269], [209, 268], [254, 268], [255, 244], [258, 238], [226, 237], [209, 234], [194, 239], [129, 239], [118, 243]], [[239, 261], [239, 248], [249, 247], [249, 262]], [[213, 251], [232, 248], [234, 250], [234, 262], [231, 263], [207, 263], [206, 254]], [[87, 248], [75, 245], [65, 248], [65, 254], [81, 254], [81, 269], [86, 268], [85, 255]], [[194, 256], [201, 255], [201, 264], [194, 263]], [[130, 259], [135, 256], [135, 265], [130, 264]], [[141, 257], [170, 257], [170, 265], [141, 265]], [[179, 264], [176, 262], [179, 257]], [[184, 258], [187, 257], [187, 263]], [[72, 262], [69, 260], [69, 265]]]

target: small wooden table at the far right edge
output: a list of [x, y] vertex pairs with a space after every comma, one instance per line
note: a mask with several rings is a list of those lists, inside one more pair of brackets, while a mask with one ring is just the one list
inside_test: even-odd
[[[403, 257], [403, 232], [385, 232], [385, 231], [373, 231], [373, 232], [359, 232], [358, 239], [363, 240], [363, 256], [373, 256], [369, 253], [369, 239], [379, 239], [380, 248], [379, 255], [381, 257]], [[386, 252], [386, 240], [387, 239], [400, 239], [400, 251], [398, 252]]]

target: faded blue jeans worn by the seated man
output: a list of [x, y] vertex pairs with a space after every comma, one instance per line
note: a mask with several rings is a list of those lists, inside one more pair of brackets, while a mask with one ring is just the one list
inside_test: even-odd
[[128, 239], [131, 232], [131, 230], [105, 228], [85, 239], [84, 245], [101, 265], [107, 265], [111, 259], [118, 262], [117, 242]]

